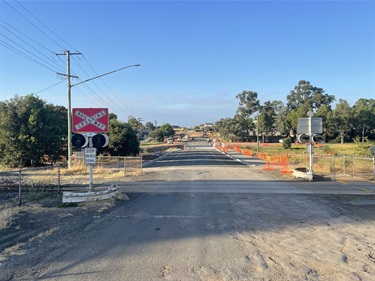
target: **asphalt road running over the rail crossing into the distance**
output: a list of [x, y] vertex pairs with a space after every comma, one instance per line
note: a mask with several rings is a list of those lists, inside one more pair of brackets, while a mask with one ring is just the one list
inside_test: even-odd
[[282, 179], [191, 145], [119, 182], [130, 196], [40, 280], [371, 280], [374, 184]]

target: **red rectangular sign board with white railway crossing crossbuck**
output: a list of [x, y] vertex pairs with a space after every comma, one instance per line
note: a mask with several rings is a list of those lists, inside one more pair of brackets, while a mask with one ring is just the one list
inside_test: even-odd
[[108, 108], [73, 108], [74, 133], [108, 132]]

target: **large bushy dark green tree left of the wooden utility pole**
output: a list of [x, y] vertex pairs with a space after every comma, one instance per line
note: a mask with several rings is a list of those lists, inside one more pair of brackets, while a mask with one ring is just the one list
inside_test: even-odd
[[67, 111], [35, 95], [16, 95], [0, 103], [0, 163], [40, 165], [43, 156], [56, 161], [67, 142]]

